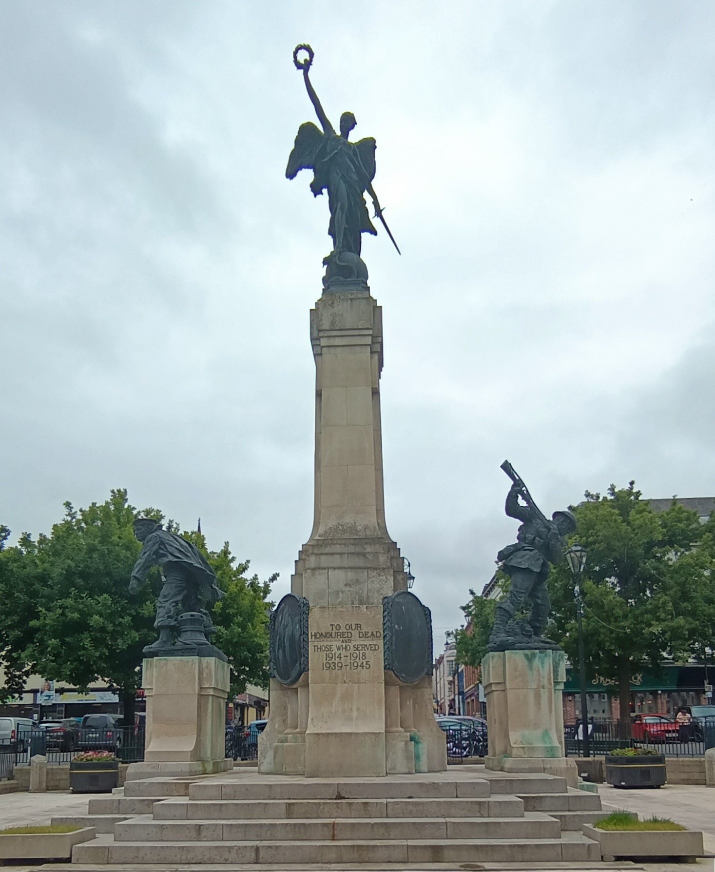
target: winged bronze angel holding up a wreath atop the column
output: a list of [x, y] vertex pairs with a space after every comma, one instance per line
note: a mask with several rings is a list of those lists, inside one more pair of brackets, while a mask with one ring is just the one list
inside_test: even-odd
[[[303, 51], [307, 52], [308, 57], [301, 60], [298, 55]], [[314, 196], [323, 194], [326, 189], [328, 191], [328, 234], [333, 241], [333, 250], [323, 259], [326, 268], [323, 285], [328, 288], [330, 284], [344, 282], [365, 283], [367, 268], [360, 257], [362, 235], [378, 233], [364, 201], [365, 192], [370, 194], [375, 207], [374, 217], [382, 221], [392, 244], [398, 249], [382, 215], [378, 195], [372, 187], [375, 177], [375, 140], [371, 137], [357, 142], [348, 140], [356, 125], [352, 112], [343, 112], [340, 116], [340, 133], [336, 133], [310, 82], [308, 73], [313, 62], [310, 45], [298, 45], [293, 52], [293, 62], [298, 70], [303, 71], [305, 87], [323, 132], [311, 121], [306, 121], [298, 128], [296, 143], [285, 170], [286, 178], [295, 179], [300, 170], [311, 169], [313, 181], [310, 182], [310, 190]]]

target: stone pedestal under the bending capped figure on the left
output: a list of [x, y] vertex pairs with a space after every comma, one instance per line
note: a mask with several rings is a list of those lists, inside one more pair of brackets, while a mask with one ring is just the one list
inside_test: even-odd
[[146, 750], [127, 780], [224, 772], [228, 663], [217, 657], [150, 657], [142, 665]]

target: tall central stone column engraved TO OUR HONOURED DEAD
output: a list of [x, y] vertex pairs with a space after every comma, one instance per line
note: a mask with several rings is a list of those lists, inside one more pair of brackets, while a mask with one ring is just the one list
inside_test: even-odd
[[316, 361], [315, 511], [291, 591], [310, 603], [308, 671], [271, 680], [262, 773], [381, 776], [446, 769], [432, 683], [385, 672], [383, 598], [407, 589], [385, 526], [382, 310], [369, 290], [323, 293]]

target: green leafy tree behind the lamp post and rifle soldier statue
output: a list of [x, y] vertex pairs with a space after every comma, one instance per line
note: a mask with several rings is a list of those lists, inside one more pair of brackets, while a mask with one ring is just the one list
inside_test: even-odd
[[[654, 512], [630, 482], [590, 494], [574, 508], [574, 541], [588, 552], [583, 636], [589, 677], [616, 682], [624, 735], [630, 734], [630, 678], [657, 671], [664, 657], [702, 654], [715, 625], [709, 539], [698, 514], [675, 501]], [[562, 562], [549, 576], [552, 637], [578, 663], [574, 582]]]

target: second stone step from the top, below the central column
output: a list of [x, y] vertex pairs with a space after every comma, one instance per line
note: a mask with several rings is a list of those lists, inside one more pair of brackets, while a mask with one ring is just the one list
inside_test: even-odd
[[[568, 808], [568, 800], [566, 808]], [[535, 809], [541, 811], [541, 809]], [[263, 820], [296, 818], [523, 817], [515, 796], [488, 799], [404, 800], [163, 800], [153, 807], [157, 821]]]

